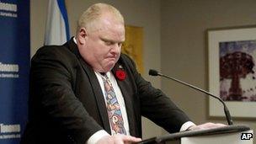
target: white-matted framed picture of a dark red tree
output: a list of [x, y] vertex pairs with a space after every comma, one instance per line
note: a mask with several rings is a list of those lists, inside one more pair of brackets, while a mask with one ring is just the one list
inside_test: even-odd
[[[256, 118], [256, 25], [209, 29], [209, 91], [234, 118]], [[223, 105], [209, 99], [209, 116], [222, 117]]]

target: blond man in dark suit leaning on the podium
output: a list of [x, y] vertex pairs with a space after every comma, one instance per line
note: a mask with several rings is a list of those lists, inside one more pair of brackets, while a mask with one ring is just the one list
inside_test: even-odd
[[138, 142], [141, 115], [168, 132], [218, 126], [190, 122], [120, 54], [124, 41], [120, 12], [97, 3], [79, 19], [75, 38], [40, 48], [31, 61], [22, 143]]

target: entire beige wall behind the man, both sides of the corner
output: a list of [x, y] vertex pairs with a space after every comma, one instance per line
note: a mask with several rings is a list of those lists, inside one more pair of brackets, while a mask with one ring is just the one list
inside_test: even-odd
[[[89, 5], [99, 1], [67, 0], [71, 34], [74, 35], [79, 15]], [[179, 77], [200, 88], [208, 88], [207, 47], [205, 30], [256, 24], [254, 0], [104, 0], [120, 9], [125, 23], [144, 28], [144, 63], [142, 74], [154, 86], [172, 96], [195, 123], [206, 121], [226, 123], [226, 120], [207, 118], [207, 98], [177, 83], [148, 77], [149, 68], [155, 68], [173, 77]], [[30, 1], [31, 56], [43, 45], [48, 1]], [[161, 34], [160, 34], [161, 32]], [[161, 37], [160, 37], [161, 36]], [[161, 38], [161, 39], [160, 39]], [[161, 49], [160, 49], [161, 48]], [[160, 62], [161, 61], [161, 62]], [[234, 120], [235, 124], [250, 125], [254, 120]], [[144, 138], [162, 134], [161, 129], [143, 120]], [[165, 133], [163, 131], [163, 133]]]

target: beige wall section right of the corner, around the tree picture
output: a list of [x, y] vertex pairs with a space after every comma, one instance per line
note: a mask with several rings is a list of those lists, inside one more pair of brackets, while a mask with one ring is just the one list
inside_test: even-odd
[[[162, 72], [207, 89], [206, 29], [256, 24], [255, 5], [254, 0], [162, 0]], [[224, 118], [207, 118], [208, 99], [205, 94], [165, 79], [162, 80], [162, 89], [195, 123], [213, 121], [227, 124]], [[256, 130], [255, 120], [234, 120], [234, 124], [249, 125]]]

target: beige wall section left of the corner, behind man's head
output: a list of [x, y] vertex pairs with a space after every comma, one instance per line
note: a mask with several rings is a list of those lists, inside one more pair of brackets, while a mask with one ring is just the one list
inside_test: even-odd
[[[152, 84], [160, 88], [160, 79], [149, 77], [147, 71], [153, 67], [161, 69], [160, 63], [160, 1], [154, 0], [67, 0], [67, 13], [70, 24], [71, 34], [74, 35], [77, 26], [77, 19], [93, 3], [109, 3], [120, 9], [125, 17], [125, 24], [143, 27], [144, 29], [144, 69], [142, 75]], [[147, 3], [147, 4], [146, 4]], [[47, 14], [48, 1], [30, 1], [30, 25], [31, 25], [31, 56], [35, 54], [40, 46], [43, 45], [45, 35], [45, 20]], [[153, 125], [151, 121], [143, 118], [142, 122], [143, 137], [162, 135], [162, 130]]]

